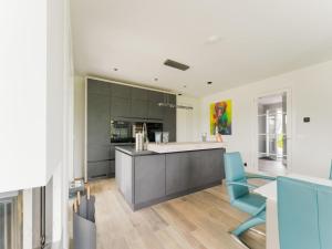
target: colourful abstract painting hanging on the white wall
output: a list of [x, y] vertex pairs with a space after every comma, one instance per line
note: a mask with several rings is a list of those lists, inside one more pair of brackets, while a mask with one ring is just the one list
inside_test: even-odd
[[210, 134], [231, 135], [231, 100], [210, 104]]

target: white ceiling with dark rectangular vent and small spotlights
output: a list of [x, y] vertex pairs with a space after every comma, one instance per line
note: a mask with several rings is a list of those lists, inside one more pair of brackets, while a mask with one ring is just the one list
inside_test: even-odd
[[332, 59], [331, 0], [71, 2], [82, 75], [203, 96]]

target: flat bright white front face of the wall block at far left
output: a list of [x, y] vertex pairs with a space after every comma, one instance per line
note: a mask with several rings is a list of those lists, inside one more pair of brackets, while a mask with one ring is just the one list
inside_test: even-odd
[[46, 1], [0, 3], [0, 191], [45, 184]]

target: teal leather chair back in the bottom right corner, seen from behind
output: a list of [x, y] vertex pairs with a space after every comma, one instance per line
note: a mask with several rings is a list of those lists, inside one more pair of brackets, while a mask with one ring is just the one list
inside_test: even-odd
[[280, 249], [332, 248], [332, 187], [278, 177]]

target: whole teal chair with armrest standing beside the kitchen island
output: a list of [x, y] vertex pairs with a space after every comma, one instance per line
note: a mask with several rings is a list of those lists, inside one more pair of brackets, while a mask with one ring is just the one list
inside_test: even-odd
[[[230, 198], [231, 206], [237, 209], [249, 214], [251, 217], [239, 225], [235, 230], [230, 231], [231, 235], [241, 242], [240, 235], [248, 229], [266, 222], [266, 198], [250, 193], [249, 189], [256, 188], [251, 184], [248, 184], [248, 178], [261, 178], [274, 180], [273, 177], [250, 175], [245, 173], [243, 162], [240, 153], [226, 153], [225, 159], [225, 173], [226, 173], [226, 186]], [[242, 243], [242, 242], [241, 242]]]

